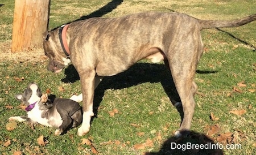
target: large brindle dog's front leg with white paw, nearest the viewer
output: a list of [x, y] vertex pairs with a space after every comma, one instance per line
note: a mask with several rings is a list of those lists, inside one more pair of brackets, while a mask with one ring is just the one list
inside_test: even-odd
[[93, 97], [94, 97], [94, 70], [82, 70], [79, 71], [81, 86], [82, 86], [82, 125], [79, 128], [77, 134], [79, 136], [85, 135], [90, 130], [90, 118], [93, 113]]

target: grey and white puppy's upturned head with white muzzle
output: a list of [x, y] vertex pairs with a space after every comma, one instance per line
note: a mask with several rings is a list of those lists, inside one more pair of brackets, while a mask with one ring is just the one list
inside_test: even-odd
[[19, 101], [22, 101], [26, 105], [33, 104], [34, 102], [40, 101], [42, 92], [40, 88], [35, 83], [28, 84], [28, 87], [24, 90], [23, 93], [16, 94], [15, 98]]

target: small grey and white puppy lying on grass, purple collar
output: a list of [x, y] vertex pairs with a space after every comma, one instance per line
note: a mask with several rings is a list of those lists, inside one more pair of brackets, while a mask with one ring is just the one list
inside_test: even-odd
[[82, 122], [82, 107], [79, 103], [64, 98], [55, 98], [52, 103], [47, 95], [42, 95], [35, 83], [30, 83], [23, 94], [16, 94], [15, 97], [26, 104], [27, 117], [10, 117], [9, 120], [57, 127], [55, 135], [60, 135], [69, 127], [77, 127]]

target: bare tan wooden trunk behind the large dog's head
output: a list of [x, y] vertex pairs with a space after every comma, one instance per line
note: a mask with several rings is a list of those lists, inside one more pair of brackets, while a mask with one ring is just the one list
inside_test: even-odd
[[15, 0], [13, 53], [42, 47], [48, 30], [50, 0]]

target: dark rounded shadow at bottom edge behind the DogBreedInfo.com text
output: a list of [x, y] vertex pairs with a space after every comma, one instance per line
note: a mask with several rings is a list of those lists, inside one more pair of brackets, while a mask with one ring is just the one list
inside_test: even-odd
[[[192, 148], [193, 146], [193, 148]], [[197, 148], [196, 148], [197, 146]], [[201, 148], [199, 148], [201, 146]], [[146, 155], [167, 154], [224, 154], [221, 146], [214, 143], [207, 135], [190, 131], [187, 137], [169, 137], [164, 141], [159, 152], [147, 152]]]

